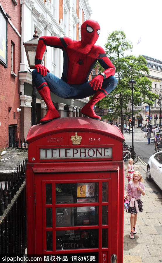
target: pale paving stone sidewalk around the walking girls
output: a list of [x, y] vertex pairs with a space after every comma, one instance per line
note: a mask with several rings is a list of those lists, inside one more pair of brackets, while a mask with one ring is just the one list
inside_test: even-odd
[[[125, 163], [125, 188], [126, 179]], [[143, 212], [137, 215], [137, 233], [130, 239], [130, 214], [124, 211], [124, 248], [123, 262], [156, 263], [162, 262], [162, 194], [160, 188], [146, 179], [146, 167], [140, 162], [135, 164], [135, 171], [140, 171], [144, 179], [145, 195], [141, 195]]]

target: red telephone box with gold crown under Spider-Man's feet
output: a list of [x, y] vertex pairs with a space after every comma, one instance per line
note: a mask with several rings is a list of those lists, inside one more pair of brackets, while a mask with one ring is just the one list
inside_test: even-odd
[[123, 141], [117, 127], [90, 118], [31, 127], [28, 254], [54, 255], [60, 262], [123, 262]]

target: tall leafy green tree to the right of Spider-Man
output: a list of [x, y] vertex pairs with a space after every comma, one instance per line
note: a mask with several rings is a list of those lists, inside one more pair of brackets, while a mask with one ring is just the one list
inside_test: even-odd
[[[115, 76], [118, 79], [118, 84], [111, 92], [110, 96], [106, 96], [96, 105], [99, 108], [109, 108], [112, 104], [114, 108], [113, 115], [108, 113], [104, 115], [103, 118], [115, 119], [120, 116], [122, 124], [123, 113], [126, 114], [127, 104], [131, 101], [131, 88], [128, 85], [130, 76], [136, 81], [135, 87], [133, 88], [134, 106], [139, 105], [140, 102], [152, 106], [153, 101], [155, 101], [158, 96], [151, 92], [152, 82], [145, 76], [146, 74], [149, 75], [149, 69], [147, 68], [145, 58], [133, 55], [125, 56], [125, 52], [131, 51], [133, 46], [130, 41], [126, 40], [126, 35], [122, 30], [115, 30], [109, 34], [105, 48], [107, 56], [116, 68]], [[123, 133], [122, 125], [121, 132]]]

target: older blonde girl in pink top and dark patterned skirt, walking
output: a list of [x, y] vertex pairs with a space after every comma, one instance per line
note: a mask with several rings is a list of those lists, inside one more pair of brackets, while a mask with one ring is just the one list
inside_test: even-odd
[[133, 181], [130, 181], [126, 187], [127, 192], [124, 198], [128, 198], [129, 207], [128, 213], [130, 213], [130, 238], [134, 238], [134, 234], [137, 233], [135, 227], [137, 222], [137, 213], [142, 212], [141, 194], [145, 195], [144, 180], [140, 172], [134, 172]]

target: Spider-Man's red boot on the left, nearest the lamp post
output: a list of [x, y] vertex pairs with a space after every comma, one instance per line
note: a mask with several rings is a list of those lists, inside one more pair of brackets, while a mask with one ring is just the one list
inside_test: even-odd
[[[42, 87], [43, 86], [43, 87]], [[50, 97], [50, 88], [48, 87], [47, 83], [44, 82], [43, 85], [41, 85], [39, 88], [37, 88], [37, 91], [43, 98], [44, 102], [47, 105], [47, 113], [43, 117], [43, 119], [40, 120], [41, 123], [50, 122], [51, 120], [57, 119], [60, 117], [60, 114], [55, 109], [53, 102]]]

